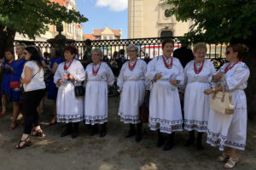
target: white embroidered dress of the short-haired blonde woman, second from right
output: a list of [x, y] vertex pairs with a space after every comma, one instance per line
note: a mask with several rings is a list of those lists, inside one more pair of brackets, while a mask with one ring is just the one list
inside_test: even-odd
[[[211, 61], [205, 60], [199, 74], [194, 70], [195, 60], [190, 61], [184, 69], [184, 129], [207, 132], [208, 116], [210, 111], [210, 96], [204, 94], [205, 89], [211, 88], [212, 75], [215, 68]], [[201, 63], [202, 65], [202, 63]], [[201, 68], [198, 65], [197, 71]]]

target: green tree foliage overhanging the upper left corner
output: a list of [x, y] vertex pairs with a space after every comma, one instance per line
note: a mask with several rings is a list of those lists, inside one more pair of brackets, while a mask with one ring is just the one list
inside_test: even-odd
[[0, 52], [12, 46], [15, 32], [30, 38], [48, 31], [47, 25], [81, 23], [88, 19], [49, 0], [0, 0]]

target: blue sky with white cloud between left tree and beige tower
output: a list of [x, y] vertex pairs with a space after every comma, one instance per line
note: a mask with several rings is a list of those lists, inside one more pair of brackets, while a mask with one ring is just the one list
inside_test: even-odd
[[82, 24], [83, 34], [109, 26], [113, 30], [122, 29], [123, 38], [127, 38], [128, 0], [76, 0], [76, 3], [79, 12], [89, 19]]

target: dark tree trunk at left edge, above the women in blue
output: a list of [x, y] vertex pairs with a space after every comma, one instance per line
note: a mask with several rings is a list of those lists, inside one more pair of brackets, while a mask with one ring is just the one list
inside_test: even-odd
[[14, 48], [15, 33], [6, 26], [0, 25], [0, 58], [3, 58], [5, 49]]

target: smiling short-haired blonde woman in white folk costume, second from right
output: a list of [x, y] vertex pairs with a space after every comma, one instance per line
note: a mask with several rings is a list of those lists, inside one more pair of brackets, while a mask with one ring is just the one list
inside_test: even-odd
[[210, 96], [205, 95], [205, 89], [211, 88], [212, 75], [215, 74], [214, 65], [206, 60], [207, 45], [196, 43], [193, 47], [195, 59], [190, 61], [184, 69], [184, 129], [189, 131], [189, 139], [185, 145], [194, 144], [197, 131], [196, 146], [202, 150], [201, 137], [207, 132], [208, 115], [210, 111]]

